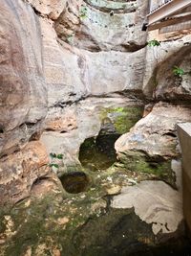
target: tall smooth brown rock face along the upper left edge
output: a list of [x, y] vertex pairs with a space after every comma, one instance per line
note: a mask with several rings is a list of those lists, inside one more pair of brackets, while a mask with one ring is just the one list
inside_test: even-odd
[[2, 0], [1, 9], [0, 155], [4, 155], [19, 150], [40, 128], [47, 93], [40, 25], [32, 8], [22, 1]]

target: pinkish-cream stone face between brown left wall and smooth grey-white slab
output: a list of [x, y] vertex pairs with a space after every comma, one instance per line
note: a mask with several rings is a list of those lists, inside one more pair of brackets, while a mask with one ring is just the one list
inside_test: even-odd
[[75, 102], [87, 94], [86, 64], [79, 66], [85, 57], [65, 44], [64, 49], [56, 41], [53, 22], [40, 19], [44, 46], [44, 76], [49, 106]]

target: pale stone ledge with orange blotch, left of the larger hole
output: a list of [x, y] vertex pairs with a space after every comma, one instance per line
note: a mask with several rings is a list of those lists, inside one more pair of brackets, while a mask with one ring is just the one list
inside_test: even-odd
[[[105, 99], [92, 97], [66, 109], [60, 110], [54, 107], [47, 118], [47, 130], [43, 132], [40, 140], [46, 146], [48, 152], [64, 153], [64, 164], [66, 167], [78, 165], [80, 145], [86, 138], [96, 136], [101, 128], [101, 109], [128, 105], [142, 105], [142, 103], [141, 101], [126, 97], [108, 97]], [[68, 123], [68, 114], [70, 115], [68, 121], [73, 120], [74, 123]], [[59, 123], [57, 116], [62, 117], [63, 123]], [[58, 123], [56, 123], [57, 121]], [[59, 124], [59, 127], [54, 129], [55, 124]]]

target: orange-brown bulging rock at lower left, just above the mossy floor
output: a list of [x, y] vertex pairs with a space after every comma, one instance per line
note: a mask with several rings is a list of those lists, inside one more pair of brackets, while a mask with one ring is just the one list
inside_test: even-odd
[[49, 173], [49, 158], [40, 142], [30, 142], [22, 151], [0, 160], [0, 204], [28, 198], [32, 184]]

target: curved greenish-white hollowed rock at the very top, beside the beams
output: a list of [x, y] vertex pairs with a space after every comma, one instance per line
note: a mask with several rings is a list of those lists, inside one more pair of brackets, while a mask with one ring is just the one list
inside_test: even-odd
[[[92, 52], [134, 52], [144, 47], [146, 33], [141, 32], [141, 26], [148, 8], [147, 1], [89, 0], [80, 4], [77, 8], [74, 3], [71, 9], [69, 2], [71, 12], [63, 12], [56, 21], [55, 30], [61, 39]], [[77, 10], [80, 19], [76, 18]]]

